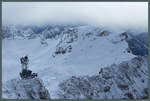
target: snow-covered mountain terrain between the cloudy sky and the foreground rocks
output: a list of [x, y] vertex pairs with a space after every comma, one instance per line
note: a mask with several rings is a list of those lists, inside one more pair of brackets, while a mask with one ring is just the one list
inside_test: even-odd
[[[72, 76], [92, 78], [105, 67], [117, 71], [124, 61], [148, 54], [146, 31], [116, 31], [90, 25], [12, 26], [3, 26], [3, 84], [19, 76], [19, 58], [28, 55], [30, 69], [38, 72], [52, 99], [60, 98], [57, 94], [59, 85]], [[143, 76], [144, 80], [146, 76]], [[146, 82], [144, 84], [146, 87]]]

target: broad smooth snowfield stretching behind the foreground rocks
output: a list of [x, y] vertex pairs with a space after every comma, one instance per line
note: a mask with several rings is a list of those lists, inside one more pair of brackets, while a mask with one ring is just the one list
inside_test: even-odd
[[[111, 32], [108, 36], [98, 37], [99, 30], [95, 27], [77, 27], [76, 41], [68, 43], [72, 51], [54, 57], [57, 46], [66, 46], [67, 38], [47, 39], [48, 46], [41, 44], [40, 38], [35, 39], [3, 39], [2, 41], [2, 82], [5, 84], [19, 77], [21, 71], [20, 57], [29, 56], [29, 68], [37, 72], [49, 90], [51, 98], [57, 98], [58, 84], [71, 76], [94, 75], [102, 67], [119, 64], [135, 57], [127, 53], [128, 44], [120, 41], [119, 33]], [[87, 37], [86, 33], [91, 32]], [[113, 43], [116, 41], [116, 43]]]

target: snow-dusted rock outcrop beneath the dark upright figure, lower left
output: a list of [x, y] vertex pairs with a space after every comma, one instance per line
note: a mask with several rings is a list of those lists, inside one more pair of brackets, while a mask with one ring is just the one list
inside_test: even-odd
[[3, 84], [2, 92], [4, 99], [50, 99], [48, 90], [39, 78], [13, 79]]

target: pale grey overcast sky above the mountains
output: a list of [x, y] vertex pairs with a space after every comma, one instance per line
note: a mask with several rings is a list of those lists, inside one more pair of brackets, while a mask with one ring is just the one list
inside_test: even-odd
[[148, 26], [147, 2], [5, 2], [3, 24]]

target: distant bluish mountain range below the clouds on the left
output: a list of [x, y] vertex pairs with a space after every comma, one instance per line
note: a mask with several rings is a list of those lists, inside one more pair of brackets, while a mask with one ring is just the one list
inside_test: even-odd
[[73, 25], [3, 25], [2, 38], [5, 39], [33, 39], [42, 37], [44, 39], [57, 38], [66, 28]]

